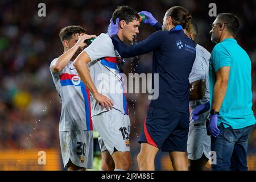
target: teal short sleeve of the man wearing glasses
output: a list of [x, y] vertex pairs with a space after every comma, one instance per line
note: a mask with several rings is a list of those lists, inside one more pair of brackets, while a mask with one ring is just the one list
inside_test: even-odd
[[217, 44], [212, 51], [210, 56], [210, 61], [214, 68], [214, 71], [217, 72], [218, 69], [222, 67], [231, 67], [232, 61], [228, 51], [221, 44]]

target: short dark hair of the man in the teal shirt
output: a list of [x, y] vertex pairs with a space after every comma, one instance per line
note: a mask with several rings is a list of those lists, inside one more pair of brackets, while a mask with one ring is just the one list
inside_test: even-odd
[[228, 32], [235, 38], [240, 28], [240, 23], [236, 15], [232, 13], [221, 13], [217, 15], [218, 23], [225, 23]]

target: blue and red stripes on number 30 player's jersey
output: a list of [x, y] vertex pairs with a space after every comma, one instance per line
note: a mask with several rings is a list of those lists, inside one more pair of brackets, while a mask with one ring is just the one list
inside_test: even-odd
[[86, 127], [87, 127], [87, 130], [93, 130], [92, 117], [91, 117], [92, 111], [90, 108], [90, 92], [82, 81], [80, 82], [79, 85], [74, 85], [72, 82], [72, 77], [74, 76], [78, 76], [78, 75], [71, 75], [69, 73], [61, 74], [60, 84], [61, 86], [68, 86], [68, 85], [81, 86], [82, 97], [84, 98], [84, 105], [85, 105]]

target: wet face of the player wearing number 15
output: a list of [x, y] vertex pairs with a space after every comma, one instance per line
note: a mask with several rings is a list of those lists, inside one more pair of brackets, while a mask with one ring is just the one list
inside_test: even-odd
[[124, 23], [123, 26], [123, 37], [129, 42], [133, 41], [135, 36], [139, 33], [139, 20], [133, 20], [129, 23]]

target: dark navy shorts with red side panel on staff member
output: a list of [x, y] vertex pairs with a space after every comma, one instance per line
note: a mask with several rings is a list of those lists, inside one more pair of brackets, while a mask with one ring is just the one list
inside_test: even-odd
[[162, 151], [187, 151], [189, 114], [149, 107], [139, 143]]

